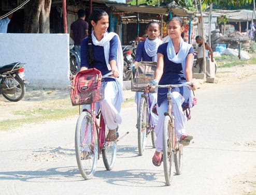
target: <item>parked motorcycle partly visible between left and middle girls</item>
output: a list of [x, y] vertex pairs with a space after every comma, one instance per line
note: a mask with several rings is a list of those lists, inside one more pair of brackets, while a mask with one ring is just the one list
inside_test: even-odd
[[123, 80], [129, 80], [132, 77], [134, 59], [132, 57], [132, 46], [123, 46]]

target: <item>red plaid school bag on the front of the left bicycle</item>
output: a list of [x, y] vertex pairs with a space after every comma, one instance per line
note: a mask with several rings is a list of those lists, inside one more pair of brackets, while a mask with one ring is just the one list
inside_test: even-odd
[[73, 106], [91, 104], [104, 99], [105, 82], [101, 71], [91, 68], [77, 73], [70, 87]]

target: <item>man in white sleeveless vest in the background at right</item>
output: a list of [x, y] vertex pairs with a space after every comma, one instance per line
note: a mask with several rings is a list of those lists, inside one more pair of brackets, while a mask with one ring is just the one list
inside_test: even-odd
[[[196, 43], [198, 44], [196, 46], [196, 50], [197, 50], [197, 59], [196, 59], [196, 63], [195, 63], [195, 67], [197, 65], [199, 65], [199, 73], [204, 73], [204, 53], [203, 53], [203, 38], [198, 35], [195, 37]], [[214, 62], [214, 52], [212, 52], [211, 47], [209, 46], [208, 43], [205, 42], [205, 56], [208, 56], [208, 51], [210, 51], [210, 55], [211, 55], [211, 62]]]

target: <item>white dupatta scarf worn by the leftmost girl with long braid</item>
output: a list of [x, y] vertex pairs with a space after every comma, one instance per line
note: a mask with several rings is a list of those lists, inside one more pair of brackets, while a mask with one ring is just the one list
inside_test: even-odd
[[106, 64], [108, 67], [108, 70], [111, 70], [110, 64], [109, 64], [109, 50], [110, 50], [110, 40], [114, 37], [118, 37], [118, 50], [117, 50], [117, 71], [119, 72], [119, 78], [116, 79], [118, 81], [118, 87], [119, 87], [119, 99], [121, 102], [123, 102], [123, 51], [121, 42], [119, 39], [118, 34], [113, 32], [106, 32], [102, 38], [101, 41], [98, 41], [96, 37], [94, 36], [94, 31], [92, 31], [92, 42], [95, 46], [102, 46], [104, 47], [104, 56], [106, 60]]

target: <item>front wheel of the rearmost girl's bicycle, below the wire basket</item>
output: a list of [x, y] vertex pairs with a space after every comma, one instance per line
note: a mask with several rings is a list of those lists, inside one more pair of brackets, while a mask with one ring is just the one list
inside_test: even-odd
[[148, 104], [146, 103], [146, 98], [141, 97], [140, 103], [139, 103], [139, 114], [138, 114], [138, 150], [139, 155], [142, 156], [145, 147], [146, 147], [146, 133], [147, 133], [147, 123], [148, 123], [148, 117], [147, 117], [147, 110], [148, 110]]

